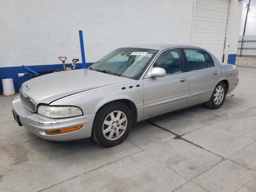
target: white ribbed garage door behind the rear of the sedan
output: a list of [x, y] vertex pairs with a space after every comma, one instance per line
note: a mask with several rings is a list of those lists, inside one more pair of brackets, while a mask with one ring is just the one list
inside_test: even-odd
[[229, 0], [196, 0], [191, 44], [212, 52], [222, 61]]

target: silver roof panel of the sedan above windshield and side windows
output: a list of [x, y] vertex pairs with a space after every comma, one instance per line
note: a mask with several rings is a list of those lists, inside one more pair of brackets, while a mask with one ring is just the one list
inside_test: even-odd
[[166, 48], [174, 48], [174, 47], [193, 47], [193, 48], [200, 48], [197, 46], [191, 46], [191, 45], [182, 45], [182, 44], [136, 44], [136, 45], [129, 45], [124, 46], [122, 48], [145, 48], [145, 49], [155, 49], [155, 50], [162, 50]]

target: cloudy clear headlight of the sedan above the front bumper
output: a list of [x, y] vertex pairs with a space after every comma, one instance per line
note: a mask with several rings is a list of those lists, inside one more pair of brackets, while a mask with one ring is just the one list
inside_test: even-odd
[[83, 115], [82, 110], [75, 106], [49, 106], [40, 105], [37, 108], [38, 114], [50, 118], [65, 118]]

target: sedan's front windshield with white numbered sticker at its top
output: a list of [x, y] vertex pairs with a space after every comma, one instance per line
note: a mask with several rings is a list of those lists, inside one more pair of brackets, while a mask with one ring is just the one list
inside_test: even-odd
[[92, 64], [89, 69], [137, 80], [157, 52], [142, 48], [118, 48]]

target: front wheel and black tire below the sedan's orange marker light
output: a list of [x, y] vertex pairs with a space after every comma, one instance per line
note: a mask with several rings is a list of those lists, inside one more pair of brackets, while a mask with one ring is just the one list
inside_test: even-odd
[[132, 113], [121, 102], [110, 103], [100, 109], [92, 127], [92, 138], [104, 147], [123, 142], [132, 128]]

